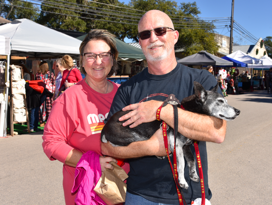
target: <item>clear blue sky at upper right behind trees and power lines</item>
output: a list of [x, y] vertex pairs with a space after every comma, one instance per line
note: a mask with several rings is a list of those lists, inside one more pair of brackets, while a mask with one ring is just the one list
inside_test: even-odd
[[[129, 0], [120, 0], [127, 4]], [[232, 0], [194, 0], [194, 1], [175, 1], [178, 6], [182, 2], [196, 2], [198, 10], [201, 12], [200, 18], [222, 18], [231, 17]], [[247, 30], [255, 38], [263, 39], [272, 36], [272, 1], [271, 0], [234, 0], [234, 20]], [[227, 28], [216, 30], [219, 34], [230, 36]], [[254, 40], [249, 41], [239, 32], [233, 32], [234, 42], [241, 45], [253, 45]], [[125, 39], [126, 42], [132, 42]]]

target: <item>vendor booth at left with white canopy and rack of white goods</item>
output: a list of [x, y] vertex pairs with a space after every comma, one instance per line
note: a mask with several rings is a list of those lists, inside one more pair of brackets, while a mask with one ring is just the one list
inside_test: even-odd
[[[32, 74], [35, 75], [33, 72], [33, 66], [32, 62], [33, 60], [37, 61], [36, 64], [39, 64], [40, 60], [47, 59], [48, 61], [53, 62], [54, 59], [57, 57], [62, 57], [65, 54], [71, 55], [73, 58], [79, 58], [79, 47], [81, 44], [81, 41], [78, 39], [75, 39], [73, 37], [67, 36], [65, 34], [62, 34], [60, 32], [57, 32], [53, 29], [47, 28], [45, 26], [42, 26], [40, 24], [37, 24], [33, 21], [30, 21], [28, 19], [18, 19], [14, 20], [11, 23], [1, 25], [0, 26], [0, 35], [4, 36], [5, 38], [10, 39], [10, 56], [7, 58], [9, 60], [9, 63], [11, 66], [7, 65], [5, 70], [5, 76], [6, 76], [6, 86], [10, 87], [11, 91], [9, 91], [9, 97], [6, 97], [5, 100], [10, 102], [10, 132], [11, 135], [13, 135], [13, 124], [14, 123], [27, 123], [28, 130], [29, 129], [29, 120], [28, 120], [28, 114], [27, 114], [27, 105], [25, 102], [26, 96], [25, 93], [15, 93], [14, 86], [17, 88], [25, 88], [25, 81], [23, 80], [23, 77], [20, 79], [14, 80], [10, 77], [9, 70], [14, 74], [18, 73], [18, 76], [22, 74], [21, 68], [17, 69], [16, 66], [13, 66], [14, 57], [16, 57], [16, 62], [19, 61], [19, 63], [25, 63], [30, 62], [29, 70], [32, 68]], [[2, 54], [2, 53], [1, 53]], [[1, 56], [2, 59], [4, 58], [3, 55]], [[27, 60], [23, 60], [23, 58]], [[4, 58], [5, 59], [5, 58]], [[23, 61], [22, 61], [23, 60]], [[18, 63], [18, 64], [19, 64]], [[53, 64], [53, 63], [52, 63]], [[51, 66], [52, 67], [52, 66]], [[50, 69], [50, 66], [49, 66]], [[18, 70], [18, 72], [16, 72]], [[20, 72], [19, 72], [20, 70]], [[36, 71], [36, 70], [35, 70]], [[20, 74], [19, 74], [20, 73]], [[10, 78], [10, 83], [9, 83]], [[8, 89], [8, 88], [7, 88]], [[8, 91], [5, 93], [5, 96], [7, 95]], [[14, 95], [19, 94], [19, 95]], [[15, 97], [18, 97], [18, 99], [15, 99]], [[15, 110], [16, 103], [15, 101], [24, 101], [24, 103], [20, 103], [20, 108]], [[24, 106], [22, 107], [22, 105]], [[6, 107], [8, 106], [8, 103], [6, 103]], [[5, 112], [5, 122], [4, 125], [4, 132], [6, 132], [7, 127], [7, 111], [8, 108], [6, 108]], [[24, 118], [19, 117], [24, 116]], [[1, 120], [2, 121], [2, 120]], [[4, 133], [5, 135], [6, 133]]]

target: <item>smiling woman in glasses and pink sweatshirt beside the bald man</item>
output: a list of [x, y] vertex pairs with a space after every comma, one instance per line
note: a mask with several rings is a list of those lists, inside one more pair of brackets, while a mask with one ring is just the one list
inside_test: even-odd
[[102, 156], [100, 133], [119, 87], [107, 80], [107, 77], [116, 73], [117, 57], [112, 34], [106, 30], [90, 31], [80, 46], [80, 67], [86, 78], [54, 101], [44, 128], [42, 146], [45, 154], [50, 160], [59, 160], [64, 164], [66, 204], [75, 204], [77, 193], [71, 193], [75, 167], [84, 153], [94, 151], [98, 157], [101, 156], [99, 162], [102, 172], [105, 168], [113, 169], [107, 162], [116, 162], [111, 157]]

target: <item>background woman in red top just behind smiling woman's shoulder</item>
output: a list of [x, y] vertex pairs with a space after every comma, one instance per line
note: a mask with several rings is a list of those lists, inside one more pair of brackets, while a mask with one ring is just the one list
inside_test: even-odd
[[[62, 85], [65, 85], [65, 88], [70, 88], [71, 86], [76, 85], [78, 82], [82, 80], [82, 76], [80, 74], [80, 71], [77, 69], [76, 66], [74, 66], [73, 59], [70, 55], [64, 55], [61, 59], [61, 64], [66, 69], [63, 71], [61, 83], [59, 86], [59, 93], [57, 96], [60, 95], [60, 89]], [[67, 82], [66, 82], [67, 81]]]

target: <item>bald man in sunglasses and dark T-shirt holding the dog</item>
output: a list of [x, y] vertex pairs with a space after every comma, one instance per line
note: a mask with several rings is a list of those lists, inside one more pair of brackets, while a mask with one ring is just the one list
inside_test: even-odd
[[[171, 19], [163, 12], [147, 12], [138, 24], [139, 42], [148, 61], [148, 68], [124, 82], [117, 91], [108, 118], [123, 107], [133, 110], [119, 120], [128, 119], [124, 126], [137, 126], [143, 122], [156, 120], [156, 111], [168, 95], [177, 99], [193, 94], [193, 81], [207, 90], [216, 86], [213, 75], [198, 69], [190, 69], [177, 63], [174, 45], [179, 33], [174, 30]], [[220, 92], [220, 90], [219, 90]], [[178, 109], [178, 131], [188, 138], [198, 141], [222, 143], [225, 138], [226, 122], [214, 117], [191, 113]], [[162, 108], [160, 118], [173, 127], [173, 107]], [[208, 186], [208, 166], [206, 142], [199, 143], [202, 160], [206, 198], [212, 197]], [[162, 131], [159, 129], [147, 141], [134, 142], [127, 147], [112, 147], [101, 144], [104, 155], [129, 159], [130, 172], [127, 179], [125, 205], [179, 204], [171, 168], [166, 156]], [[194, 149], [191, 146], [194, 153]], [[185, 179], [189, 184], [183, 193], [188, 204], [201, 197], [200, 183], [190, 181], [185, 164]]]

